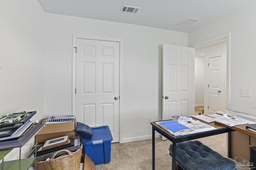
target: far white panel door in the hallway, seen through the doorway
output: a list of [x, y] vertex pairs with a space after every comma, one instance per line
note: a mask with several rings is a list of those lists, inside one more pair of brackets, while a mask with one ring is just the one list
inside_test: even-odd
[[208, 59], [208, 114], [224, 110], [224, 69], [223, 56]]

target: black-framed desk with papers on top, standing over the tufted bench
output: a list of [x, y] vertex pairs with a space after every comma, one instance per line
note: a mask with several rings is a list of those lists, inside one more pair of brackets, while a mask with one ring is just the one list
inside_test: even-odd
[[160, 133], [161, 135], [166, 137], [173, 144], [172, 145], [172, 170], [175, 170], [175, 168], [176, 168], [176, 143], [235, 131], [234, 129], [230, 129], [229, 127], [225, 127], [223, 125], [216, 124], [216, 123], [206, 123], [206, 124], [211, 125], [211, 126], [215, 127], [216, 129], [211, 130], [211, 131], [192, 133], [189, 135], [174, 136], [174, 135], [171, 135], [168, 131], [166, 131], [162, 127], [160, 127], [155, 122], [151, 122], [151, 125], [152, 125], [152, 170], [155, 169], [155, 131], [157, 131], [158, 133]]

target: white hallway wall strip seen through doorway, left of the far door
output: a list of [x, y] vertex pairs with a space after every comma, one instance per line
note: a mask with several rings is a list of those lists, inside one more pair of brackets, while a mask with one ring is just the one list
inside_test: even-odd
[[195, 106], [204, 106], [204, 57], [195, 56]]

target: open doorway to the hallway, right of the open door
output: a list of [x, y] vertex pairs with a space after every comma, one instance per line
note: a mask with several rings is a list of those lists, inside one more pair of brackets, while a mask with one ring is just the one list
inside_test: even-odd
[[[214, 49], [214, 47], [218, 47], [220, 44], [224, 44], [225, 51], [220, 52], [219, 50]], [[218, 37], [214, 37], [212, 39], [208, 39], [206, 41], [202, 41], [200, 43], [193, 45], [195, 49], [195, 107], [196, 106], [204, 106], [204, 113], [210, 114], [214, 111], [226, 110], [229, 108], [229, 87], [230, 87], [230, 33], [220, 35]], [[207, 49], [207, 50], [206, 50]], [[209, 51], [214, 51], [214, 53], [210, 53]], [[213, 49], [213, 50], [212, 50]], [[205, 54], [205, 52], [207, 54]], [[217, 85], [214, 84], [213, 90], [216, 92], [211, 93], [210, 89], [210, 69], [208, 66], [209, 61], [212, 59], [219, 59], [223, 57], [223, 76], [220, 78], [219, 76], [214, 75], [216, 82], [216, 78], [220, 78], [220, 82], [222, 81], [223, 87], [218, 89]], [[214, 60], [217, 61], [217, 60]], [[197, 63], [199, 62], [199, 63]], [[217, 63], [217, 62], [215, 62]], [[215, 66], [215, 65], [214, 65]], [[216, 67], [217, 68], [217, 67]], [[214, 68], [214, 73], [217, 73], [217, 69]], [[200, 70], [200, 71], [198, 71]], [[198, 72], [200, 73], [198, 75]], [[220, 74], [221, 75], [221, 74]], [[202, 90], [203, 89], [203, 90]], [[211, 94], [213, 94], [211, 96]], [[212, 97], [212, 98], [211, 98]], [[216, 98], [222, 97], [221, 101], [216, 104], [216, 102], [212, 102], [212, 100], [216, 100]], [[215, 106], [214, 106], [215, 104]], [[222, 106], [220, 106], [222, 105]], [[214, 109], [213, 109], [214, 107]], [[216, 107], [216, 108], [215, 108]], [[213, 111], [213, 112], [212, 112]]]

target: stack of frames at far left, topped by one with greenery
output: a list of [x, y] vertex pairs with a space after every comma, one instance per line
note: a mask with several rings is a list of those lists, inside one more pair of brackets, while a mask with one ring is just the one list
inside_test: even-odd
[[0, 117], [0, 142], [12, 141], [26, 134], [34, 125], [30, 119], [36, 111], [22, 111]]

